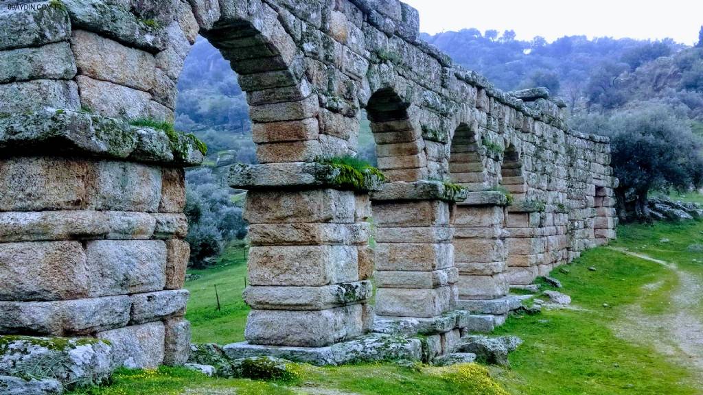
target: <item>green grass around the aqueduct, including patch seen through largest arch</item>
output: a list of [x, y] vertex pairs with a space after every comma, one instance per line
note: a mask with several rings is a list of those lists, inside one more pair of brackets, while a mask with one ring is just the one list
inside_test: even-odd
[[[703, 394], [702, 376], [678, 358], [681, 350], [660, 347], [666, 332], [632, 318], [632, 311], [653, 322], [676, 313], [672, 301], [682, 290], [679, 275], [703, 281], [703, 252], [690, 250], [696, 244], [703, 245], [703, 222], [621, 226], [610, 247], [588, 251], [553, 271], [575, 309], [508, 318], [496, 333], [524, 339], [511, 354], [509, 369], [297, 365], [299, 375], [286, 382], [212, 379], [178, 368], [121, 370], [112, 385], [77, 394]], [[679, 271], [612, 248], [671, 262]], [[190, 273], [200, 276], [186, 283], [193, 341], [241, 341], [248, 311], [241, 298], [244, 247], [228, 247], [216, 267]], [[697, 303], [686, 313], [703, 320], [700, 299], [692, 297]]]

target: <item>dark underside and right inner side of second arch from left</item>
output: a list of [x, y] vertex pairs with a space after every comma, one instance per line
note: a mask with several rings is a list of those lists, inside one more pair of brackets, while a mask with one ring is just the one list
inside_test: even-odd
[[411, 103], [389, 87], [375, 91], [366, 103], [378, 168], [389, 181], [427, 178], [425, 143], [422, 131], [411, 120], [410, 107]]

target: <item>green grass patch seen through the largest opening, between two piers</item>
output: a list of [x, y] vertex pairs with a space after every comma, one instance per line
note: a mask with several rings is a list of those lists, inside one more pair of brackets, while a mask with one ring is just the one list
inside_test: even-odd
[[[242, 299], [247, 276], [247, 250], [228, 245], [217, 265], [205, 270], [189, 270], [200, 276], [186, 282], [191, 291], [186, 318], [191, 321], [194, 343], [229, 344], [244, 340], [249, 306]], [[221, 309], [217, 310], [215, 285]]]

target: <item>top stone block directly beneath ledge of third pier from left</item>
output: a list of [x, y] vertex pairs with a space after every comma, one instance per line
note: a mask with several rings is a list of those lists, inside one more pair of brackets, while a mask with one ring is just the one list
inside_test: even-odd
[[439, 200], [372, 201], [372, 207], [373, 220], [379, 228], [449, 226], [449, 205]]

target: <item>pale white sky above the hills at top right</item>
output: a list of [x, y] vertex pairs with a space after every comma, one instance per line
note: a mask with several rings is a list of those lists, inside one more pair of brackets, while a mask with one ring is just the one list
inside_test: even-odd
[[574, 34], [664, 39], [692, 45], [703, 0], [401, 0], [420, 12], [420, 32], [512, 29], [518, 39]]

